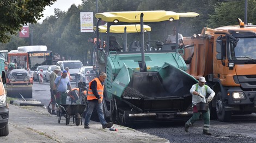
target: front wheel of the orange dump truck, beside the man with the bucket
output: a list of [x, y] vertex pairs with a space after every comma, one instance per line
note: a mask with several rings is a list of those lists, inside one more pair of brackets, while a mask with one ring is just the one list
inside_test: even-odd
[[231, 118], [231, 111], [225, 111], [224, 103], [221, 98], [221, 92], [217, 94], [216, 112], [218, 121], [229, 121]]

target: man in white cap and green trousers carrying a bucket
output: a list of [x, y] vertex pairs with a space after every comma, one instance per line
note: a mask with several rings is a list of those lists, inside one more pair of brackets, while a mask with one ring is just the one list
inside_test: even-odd
[[[192, 106], [193, 106], [193, 116], [185, 123], [185, 131], [188, 132], [188, 128], [194, 124], [199, 119], [200, 112], [197, 111], [197, 103], [204, 102], [209, 103], [214, 98], [215, 92], [209, 86], [205, 85], [205, 77], [199, 77], [199, 83], [194, 84], [190, 93], [192, 94]], [[206, 99], [206, 94], [209, 93], [209, 97]], [[211, 135], [209, 132], [210, 127], [210, 112], [208, 111], [202, 113], [204, 119], [203, 134]]]

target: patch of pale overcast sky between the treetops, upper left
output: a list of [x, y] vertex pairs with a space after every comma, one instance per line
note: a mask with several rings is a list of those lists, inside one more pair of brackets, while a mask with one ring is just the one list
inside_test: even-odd
[[46, 6], [44, 12], [44, 17], [42, 17], [39, 22], [42, 22], [47, 16], [54, 15], [54, 9], [58, 8], [62, 11], [67, 11], [72, 4], [82, 4], [81, 0], [57, 0], [53, 5]]

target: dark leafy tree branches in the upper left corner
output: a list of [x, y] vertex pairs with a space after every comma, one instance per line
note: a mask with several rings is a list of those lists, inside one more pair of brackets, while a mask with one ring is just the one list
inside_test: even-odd
[[0, 0], [0, 42], [7, 43], [11, 35], [16, 35], [22, 24], [36, 23], [42, 17], [47, 5], [57, 0]]

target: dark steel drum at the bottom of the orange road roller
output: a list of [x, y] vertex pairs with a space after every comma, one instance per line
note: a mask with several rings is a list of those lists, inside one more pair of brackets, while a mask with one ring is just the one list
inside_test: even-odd
[[[7, 86], [7, 96], [10, 98], [32, 98], [32, 86]], [[21, 94], [21, 95], [20, 95]]]

